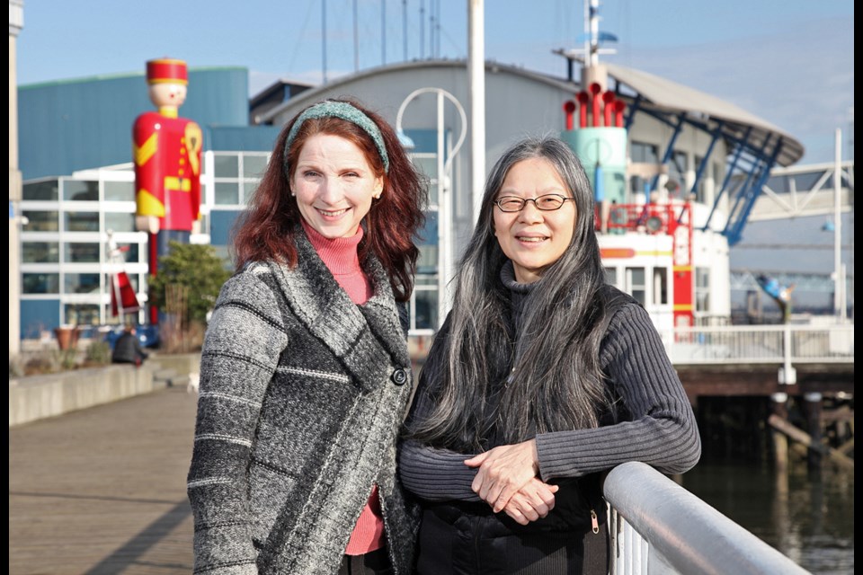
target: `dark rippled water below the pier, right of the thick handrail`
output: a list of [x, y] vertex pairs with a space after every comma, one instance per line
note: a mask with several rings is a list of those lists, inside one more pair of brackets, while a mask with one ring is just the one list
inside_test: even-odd
[[699, 463], [687, 490], [816, 575], [854, 572], [854, 473], [825, 465], [820, 477], [793, 463]]

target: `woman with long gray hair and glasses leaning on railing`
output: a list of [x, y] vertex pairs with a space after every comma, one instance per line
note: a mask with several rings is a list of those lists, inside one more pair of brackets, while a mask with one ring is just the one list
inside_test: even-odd
[[650, 317], [605, 283], [582, 164], [521, 140], [489, 175], [405, 422], [418, 572], [605, 573], [603, 474], [683, 473], [700, 451]]

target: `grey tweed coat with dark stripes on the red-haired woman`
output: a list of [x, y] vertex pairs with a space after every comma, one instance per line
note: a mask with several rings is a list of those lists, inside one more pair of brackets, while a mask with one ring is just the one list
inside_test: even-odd
[[195, 572], [335, 573], [377, 483], [390, 559], [409, 573], [404, 306], [374, 257], [375, 295], [355, 305], [301, 231], [297, 243], [295, 269], [257, 262], [229, 279], [209, 323], [188, 477]]

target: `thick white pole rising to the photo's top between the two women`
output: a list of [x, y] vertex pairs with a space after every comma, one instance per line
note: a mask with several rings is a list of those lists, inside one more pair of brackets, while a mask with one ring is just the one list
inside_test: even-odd
[[485, 7], [483, 0], [468, 0], [467, 81], [470, 85], [470, 192], [474, 223], [485, 187]]

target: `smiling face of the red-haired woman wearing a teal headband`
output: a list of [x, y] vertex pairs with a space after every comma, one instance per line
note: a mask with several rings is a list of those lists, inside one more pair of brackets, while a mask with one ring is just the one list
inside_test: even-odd
[[356, 234], [383, 188], [383, 177], [375, 175], [360, 147], [325, 133], [306, 140], [290, 176], [303, 219], [331, 239]]

